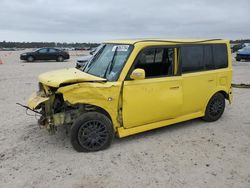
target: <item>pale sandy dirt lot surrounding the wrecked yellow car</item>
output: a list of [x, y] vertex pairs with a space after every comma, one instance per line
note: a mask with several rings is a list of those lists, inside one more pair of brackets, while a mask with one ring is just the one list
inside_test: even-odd
[[[108, 150], [77, 153], [65, 130], [40, 129], [15, 103], [37, 90], [37, 76], [68, 62], [22, 63], [0, 52], [0, 187], [250, 187], [250, 90], [214, 123], [199, 119], [115, 139]], [[234, 64], [234, 83], [250, 83], [250, 62]]]

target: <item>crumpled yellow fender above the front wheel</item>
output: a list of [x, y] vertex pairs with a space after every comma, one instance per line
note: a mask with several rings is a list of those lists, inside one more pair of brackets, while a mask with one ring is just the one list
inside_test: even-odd
[[121, 82], [84, 82], [60, 87], [57, 93], [71, 105], [90, 104], [104, 109], [116, 129], [121, 126], [118, 118], [120, 91]]

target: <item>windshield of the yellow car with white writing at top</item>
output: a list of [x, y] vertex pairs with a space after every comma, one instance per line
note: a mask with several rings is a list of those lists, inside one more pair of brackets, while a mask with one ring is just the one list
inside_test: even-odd
[[115, 81], [131, 51], [131, 45], [104, 44], [84, 71], [109, 81]]

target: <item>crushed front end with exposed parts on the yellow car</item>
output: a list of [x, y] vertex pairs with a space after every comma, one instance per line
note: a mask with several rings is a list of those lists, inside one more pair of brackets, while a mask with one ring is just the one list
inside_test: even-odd
[[28, 107], [41, 115], [38, 124], [45, 126], [52, 133], [58, 125], [71, 125], [86, 108], [83, 105], [67, 104], [57, 89], [39, 83], [39, 91], [32, 94], [28, 100]]

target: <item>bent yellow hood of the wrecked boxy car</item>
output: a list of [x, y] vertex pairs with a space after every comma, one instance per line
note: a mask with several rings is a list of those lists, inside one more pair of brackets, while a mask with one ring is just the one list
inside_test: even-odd
[[64, 84], [88, 81], [106, 81], [106, 79], [87, 74], [76, 68], [68, 68], [43, 73], [39, 76], [39, 81], [51, 87], [60, 87], [60, 85]]

